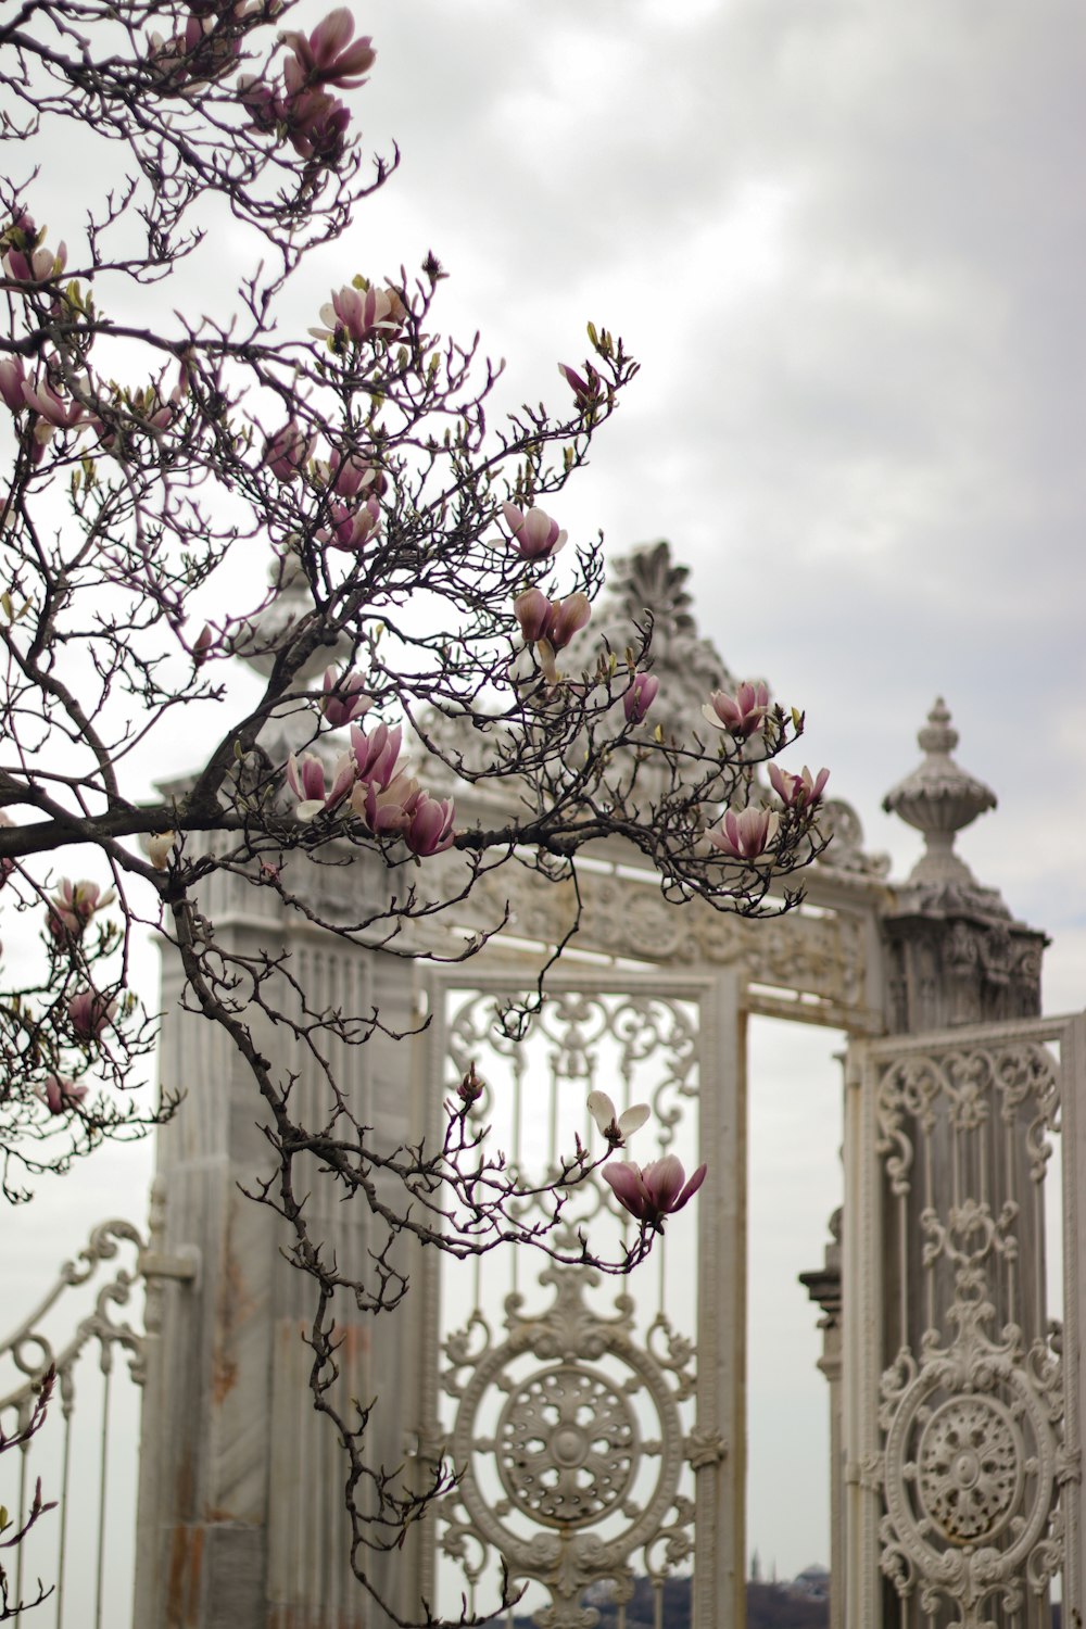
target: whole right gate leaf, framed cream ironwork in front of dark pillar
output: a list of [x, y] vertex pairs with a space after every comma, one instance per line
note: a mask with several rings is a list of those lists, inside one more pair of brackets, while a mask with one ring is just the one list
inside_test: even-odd
[[1047, 1629], [1053, 1580], [1079, 1622], [1083, 1021], [861, 1043], [848, 1082], [847, 1622]]

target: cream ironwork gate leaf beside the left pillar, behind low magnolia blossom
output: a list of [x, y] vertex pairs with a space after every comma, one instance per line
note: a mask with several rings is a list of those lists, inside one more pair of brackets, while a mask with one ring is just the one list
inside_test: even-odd
[[[575, 1134], [601, 1148], [586, 1098], [604, 1090], [619, 1111], [632, 1101], [653, 1109], [620, 1157], [645, 1165], [674, 1152], [687, 1170], [710, 1158], [720, 1191], [721, 1161], [707, 1150], [725, 1140], [715, 1016], [721, 989], [734, 1000], [729, 981], [565, 974], [549, 981], [523, 1041], [495, 1026], [497, 1005], [524, 992], [516, 981], [484, 976], [469, 987], [462, 974], [459, 986], [446, 974], [431, 976], [428, 989], [431, 1103], [474, 1064], [485, 1082], [479, 1126], [490, 1127], [488, 1147], [505, 1150], [521, 1176], [554, 1178]], [[526, 1201], [523, 1220], [542, 1214], [539, 1201]], [[659, 1603], [663, 1580], [692, 1570], [695, 1512], [708, 1526], [718, 1518], [731, 1429], [718, 1411], [716, 1347], [726, 1347], [729, 1363], [736, 1308], [728, 1316], [728, 1306], [702, 1303], [705, 1274], [720, 1271], [738, 1236], [725, 1236], [712, 1217], [707, 1183], [632, 1279], [555, 1267], [531, 1249], [448, 1264], [440, 1285], [431, 1274], [423, 1437], [459, 1473], [431, 1567], [446, 1590], [456, 1569], [456, 1595], [464, 1590], [469, 1609], [492, 1609], [497, 1557], [515, 1580], [534, 1583], [518, 1611], [534, 1611], [541, 1629], [591, 1629], [601, 1590], [619, 1601], [624, 1622], [635, 1575], [651, 1580]], [[593, 1253], [614, 1259], [632, 1227], [609, 1188], [589, 1181], [570, 1192], [558, 1241], [576, 1248], [583, 1228]], [[695, 1577], [695, 1601], [698, 1585], [695, 1622], [708, 1629], [718, 1587]]]

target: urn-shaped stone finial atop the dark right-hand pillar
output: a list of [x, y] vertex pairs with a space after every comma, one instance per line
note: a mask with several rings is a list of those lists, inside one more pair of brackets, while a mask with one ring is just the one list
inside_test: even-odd
[[936, 697], [928, 722], [917, 736], [923, 762], [882, 798], [887, 813], [900, 814], [925, 836], [925, 852], [913, 867], [910, 883], [970, 885], [975, 878], [954, 854], [954, 832], [995, 808], [995, 792], [966, 774], [951, 757], [957, 730], [943, 697]]

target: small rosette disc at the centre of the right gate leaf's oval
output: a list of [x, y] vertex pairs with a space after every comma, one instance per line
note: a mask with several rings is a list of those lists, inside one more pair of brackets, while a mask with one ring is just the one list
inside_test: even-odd
[[951, 1544], [995, 1538], [1018, 1505], [1023, 1460], [1005, 1406], [956, 1396], [935, 1411], [920, 1437], [918, 1495]]

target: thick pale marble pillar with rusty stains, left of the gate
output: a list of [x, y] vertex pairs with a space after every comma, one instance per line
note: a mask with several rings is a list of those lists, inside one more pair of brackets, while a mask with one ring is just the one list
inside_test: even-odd
[[[304, 857], [293, 889], [324, 919], [358, 920], [384, 886], [381, 862], [353, 857], [317, 865]], [[304, 870], [303, 870], [304, 868]], [[291, 886], [288, 883], [288, 886]], [[365, 1015], [410, 1028], [410, 976], [402, 961], [360, 950], [296, 912], [270, 889], [213, 875], [200, 907], [228, 953], [290, 956], [311, 1008]], [[290, 1010], [291, 992], [272, 981]], [[140, 1456], [135, 1622], [140, 1629], [368, 1629], [384, 1622], [350, 1569], [344, 1512], [347, 1461], [327, 1419], [316, 1416], [304, 1342], [313, 1282], [287, 1259], [293, 1235], [265, 1205], [246, 1197], [272, 1175], [262, 1100], [230, 1036], [181, 1008], [181, 969], [163, 951], [160, 1075], [184, 1101], [158, 1135], [155, 1194], [161, 1249], [192, 1254], [192, 1284], [161, 1289], [161, 1334], [148, 1362]], [[300, 1121], [324, 1127], [327, 1085], [285, 1026], [249, 1013], [257, 1044], [280, 1078], [293, 1074]], [[357, 1117], [379, 1126], [383, 1147], [409, 1139], [409, 1047], [374, 1034], [366, 1044], [331, 1043], [340, 1088]], [[326, 1259], [366, 1276], [366, 1251], [384, 1245], [365, 1201], [344, 1201], [313, 1166], [308, 1220]], [[415, 1349], [412, 1298], [378, 1318], [350, 1300], [337, 1311], [342, 1337], [337, 1396], [378, 1399], [368, 1432], [370, 1463], [404, 1463], [414, 1420], [405, 1370]], [[374, 1582], [407, 1596], [412, 1569], [394, 1551], [378, 1557]], [[417, 1601], [397, 1601], [417, 1611]]]

